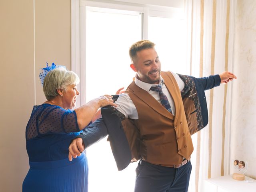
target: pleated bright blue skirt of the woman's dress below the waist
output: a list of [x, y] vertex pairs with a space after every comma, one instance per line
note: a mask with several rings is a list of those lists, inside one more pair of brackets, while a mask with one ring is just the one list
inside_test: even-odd
[[73, 158], [49, 162], [29, 162], [23, 192], [87, 192], [88, 163], [84, 152]]

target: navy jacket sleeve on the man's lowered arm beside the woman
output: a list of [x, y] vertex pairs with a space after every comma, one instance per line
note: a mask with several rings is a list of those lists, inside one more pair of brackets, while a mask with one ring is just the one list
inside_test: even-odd
[[83, 130], [77, 137], [82, 138], [85, 148], [100, 141], [108, 135], [108, 130], [102, 118], [96, 120]]

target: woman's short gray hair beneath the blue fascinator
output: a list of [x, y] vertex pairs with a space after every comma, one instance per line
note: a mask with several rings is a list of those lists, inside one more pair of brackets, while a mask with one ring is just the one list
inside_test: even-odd
[[58, 89], [66, 91], [69, 85], [78, 84], [79, 77], [73, 71], [68, 71], [63, 67], [56, 68], [45, 76], [43, 91], [47, 100], [58, 96]]

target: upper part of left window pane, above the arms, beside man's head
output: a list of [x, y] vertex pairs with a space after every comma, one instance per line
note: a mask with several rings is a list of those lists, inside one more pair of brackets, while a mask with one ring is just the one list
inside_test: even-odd
[[86, 14], [86, 101], [130, 84], [129, 47], [141, 38], [141, 14], [100, 10]]

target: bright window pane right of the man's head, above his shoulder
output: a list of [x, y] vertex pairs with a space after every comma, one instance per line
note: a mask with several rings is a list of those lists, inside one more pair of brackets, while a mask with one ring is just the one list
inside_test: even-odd
[[148, 39], [156, 44], [162, 70], [188, 74], [185, 21], [177, 18], [148, 18]]

